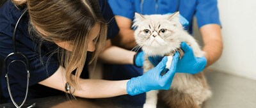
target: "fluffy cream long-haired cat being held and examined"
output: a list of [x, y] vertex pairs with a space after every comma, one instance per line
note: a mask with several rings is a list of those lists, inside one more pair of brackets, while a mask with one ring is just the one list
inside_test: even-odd
[[[135, 13], [132, 27], [138, 47], [145, 53], [143, 72], [154, 68], [148, 56], [168, 56], [166, 68], [170, 67], [175, 51], [182, 50], [180, 43], [186, 42], [193, 49], [196, 57], [204, 56], [193, 36], [184, 30], [179, 21], [179, 12], [170, 15], [140, 15]], [[152, 90], [146, 93], [144, 108], [156, 108], [157, 94], [171, 108], [200, 108], [207, 98], [211, 97], [211, 90], [205, 81], [204, 73], [195, 75], [175, 73], [172, 86], [169, 90]]]

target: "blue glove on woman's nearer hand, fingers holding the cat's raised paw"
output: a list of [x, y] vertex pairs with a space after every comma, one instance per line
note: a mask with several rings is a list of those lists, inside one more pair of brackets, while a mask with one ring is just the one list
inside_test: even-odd
[[129, 95], [138, 95], [150, 90], [157, 89], [170, 89], [172, 79], [176, 72], [176, 66], [179, 59], [179, 53], [173, 56], [172, 65], [170, 70], [164, 75], [161, 75], [163, 70], [166, 70], [167, 57], [164, 57], [162, 61], [148, 72], [139, 77], [134, 77], [127, 82], [126, 91]]

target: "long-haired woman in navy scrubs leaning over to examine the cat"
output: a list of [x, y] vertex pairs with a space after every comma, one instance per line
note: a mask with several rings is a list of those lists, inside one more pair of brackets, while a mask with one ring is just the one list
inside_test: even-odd
[[[98, 56], [114, 63], [132, 65], [143, 62], [140, 59], [143, 56], [134, 59], [135, 52], [111, 46], [111, 40], [107, 38], [118, 33], [115, 20], [111, 20], [113, 17], [108, 1], [103, 0], [1, 1], [0, 59], [3, 61], [13, 52], [13, 30], [20, 18], [14, 47], [17, 52], [24, 53], [30, 63], [28, 100], [63, 93], [83, 98], [106, 98], [169, 89], [179, 54], [164, 76], [160, 72], [166, 66], [167, 58], [147, 74], [129, 80], [88, 79], [88, 65]], [[17, 56], [10, 60], [24, 61]], [[20, 102], [26, 96], [28, 73], [21, 62], [10, 65], [8, 61], [7, 65], [12, 96], [15, 102]], [[1, 70], [0, 90], [4, 100], [11, 102], [4, 76], [5, 70]]]

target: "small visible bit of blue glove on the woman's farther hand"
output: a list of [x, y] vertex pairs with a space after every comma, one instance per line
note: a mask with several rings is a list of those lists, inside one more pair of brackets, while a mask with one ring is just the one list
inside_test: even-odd
[[[137, 52], [134, 57], [133, 57], [133, 65], [137, 66], [137, 67], [141, 67], [143, 66], [143, 62], [144, 62], [144, 52]], [[159, 61], [160, 62], [160, 61]]]

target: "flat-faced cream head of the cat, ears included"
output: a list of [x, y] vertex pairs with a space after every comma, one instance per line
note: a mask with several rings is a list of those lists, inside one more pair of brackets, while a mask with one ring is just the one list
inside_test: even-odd
[[184, 32], [179, 15], [140, 15], [135, 13], [135, 40], [149, 56], [163, 56], [180, 47]]

